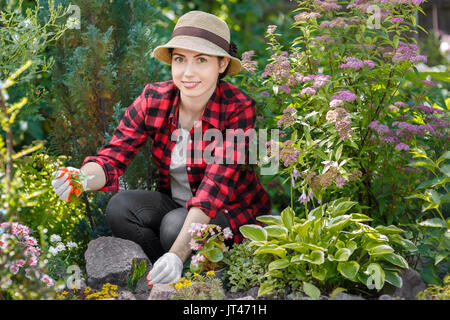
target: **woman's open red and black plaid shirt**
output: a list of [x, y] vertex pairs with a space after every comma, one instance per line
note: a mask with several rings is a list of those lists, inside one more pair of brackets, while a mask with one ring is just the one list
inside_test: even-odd
[[[142, 94], [126, 110], [109, 143], [96, 156], [83, 161], [83, 165], [95, 161], [103, 167], [106, 185], [100, 191], [119, 189], [118, 177], [150, 137], [153, 159], [159, 172], [158, 190], [171, 196], [169, 167], [176, 144], [172, 133], [178, 130], [179, 99], [180, 91], [172, 80], [145, 86]], [[231, 154], [234, 158], [226, 158], [230, 155], [226, 148], [234, 142], [226, 139], [226, 130], [247, 132], [254, 128], [255, 119], [255, 101], [232, 84], [220, 80], [199, 121], [190, 130], [191, 140], [186, 152], [186, 169], [193, 194], [186, 202], [186, 209], [200, 208], [211, 219], [219, 211], [223, 212], [230, 222], [235, 243], [243, 240], [240, 226], [248, 223], [260, 225], [255, 217], [271, 212], [269, 196], [254, 167], [238, 161], [244, 156], [244, 163], [248, 163], [249, 139], [241, 139], [241, 142], [237, 139], [237, 146], [231, 149], [234, 150]], [[208, 129], [220, 130], [223, 144], [218, 144], [215, 139], [196, 137], [196, 125], [202, 126], [202, 137]], [[199, 128], [196, 132], [200, 132]], [[213, 145], [209, 146], [211, 143]], [[222, 157], [223, 161], [205, 162], [203, 151], [207, 146], [210, 154], [216, 159]], [[245, 155], [241, 154], [242, 150], [245, 150]]]

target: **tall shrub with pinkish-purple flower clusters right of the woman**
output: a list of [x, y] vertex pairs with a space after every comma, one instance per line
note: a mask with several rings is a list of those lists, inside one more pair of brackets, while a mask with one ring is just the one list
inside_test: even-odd
[[420, 180], [413, 168], [399, 170], [412, 159], [408, 150], [449, 141], [445, 101], [415, 68], [426, 63], [414, 38], [422, 2], [298, 1], [298, 37], [286, 44], [269, 26], [270, 58], [249, 78], [259, 79], [274, 118], [266, 125], [285, 137], [280, 174], [290, 176], [291, 206], [293, 197], [306, 210], [310, 202], [353, 194], [383, 222], [394, 210], [404, 215], [398, 200]]

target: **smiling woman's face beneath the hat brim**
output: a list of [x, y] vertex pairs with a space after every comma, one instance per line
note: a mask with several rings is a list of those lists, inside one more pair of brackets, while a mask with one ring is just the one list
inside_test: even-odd
[[191, 50], [175, 48], [172, 52], [172, 79], [182, 97], [209, 99], [230, 58], [219, 59]]

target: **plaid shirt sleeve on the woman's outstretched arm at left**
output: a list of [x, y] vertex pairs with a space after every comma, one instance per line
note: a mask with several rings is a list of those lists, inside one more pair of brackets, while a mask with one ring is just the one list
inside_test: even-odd
[[137, 152], [147, 141], [149, 132], [145, 123], [146, 108], [148, 105], [145, 92], [127, 108], [111, 140], [103, 146], [96, 156], [86, 157], [83, 165], [96, 162], [102, 166], [106, 176], [106, 184], [100, 191], [119, 190], [119, 176], [133, 160]]

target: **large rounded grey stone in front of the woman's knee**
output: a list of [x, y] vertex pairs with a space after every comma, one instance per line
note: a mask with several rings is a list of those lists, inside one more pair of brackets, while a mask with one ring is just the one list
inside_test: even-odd
[[[151, 269], [150, 260], [138, 244], [115, 237], [92, 240], [84, 257], [87, 284], [93, 289], [100, 289], [107, 282], [127, 288], [127, 276], [131, 273], [133, 258], [136, 258], [138, 263], [141, 260], [147, 261], [146, 274]], [[143, 290], [141, 283], [142, 278], [138, 284], [139, 289]]]

